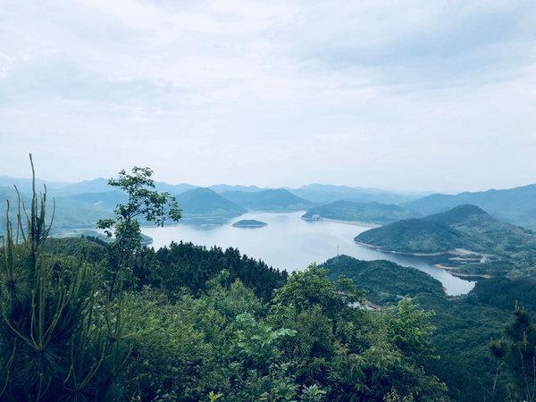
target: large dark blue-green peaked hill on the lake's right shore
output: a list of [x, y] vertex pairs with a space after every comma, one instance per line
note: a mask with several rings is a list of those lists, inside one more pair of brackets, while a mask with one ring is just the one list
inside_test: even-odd
[[356, 237], [356, 241], [406, 253], [465, 248], [479, 253], [506, 255], [536, 247], [536, 236], [532, 230], [500, 222], [476, 205], [458, 205], [444, 213], [366, 230]]

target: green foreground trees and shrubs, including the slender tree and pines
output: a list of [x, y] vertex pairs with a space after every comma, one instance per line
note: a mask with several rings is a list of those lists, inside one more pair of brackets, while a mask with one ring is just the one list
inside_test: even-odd
[[[432, 306], [426, 297], [448, 303], [433, 280], [429, 293], [430, 284], [375, 290], [378, 277], [366, 283], [367, 275], [341, 275], [358, 272], [344, 258], [330, 264], [345, 272], [311, 265], [288, 275], [235, 249], [142, 247], [138, 219], [163, 225], [180, 218], [151, 175], [135, 168], [110, 181], [129, 195], [98, 224], [111, 242], [49, 239], [46, 193], [34, 192], [14, 222], [6, 212], [2, 400], [439, 401], [465, 392], [461, 384], [448, 393], [441, 378], [448, 372], [437, 339], [448, 333], [434, 335], [433, 314], [406, 297], [422, 306]], [[378, 264], [391, 277], [398, 267]], [[380, 309], [365, 308], [362, 287]], [[514, 400], [533, 400], [515, 351], [523, 347], [530, 362], [536, 331], [530, 314], [515, 317], [493, 348], [500, 384]]]

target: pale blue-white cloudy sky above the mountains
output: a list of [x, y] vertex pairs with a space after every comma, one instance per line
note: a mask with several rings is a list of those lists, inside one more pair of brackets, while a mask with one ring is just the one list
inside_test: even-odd
[[0, 0], [0, 175], [536, 182], [536, 2]]

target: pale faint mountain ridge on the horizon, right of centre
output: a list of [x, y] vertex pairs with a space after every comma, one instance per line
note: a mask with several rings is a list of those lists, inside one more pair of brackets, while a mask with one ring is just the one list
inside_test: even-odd
[[293, 194], [304, 197], [314, 203], [331, 203], [338, 200], [356, 202], [379, 202], [383, 204], [400, 204], [413, 201], [422, 194], [400, 194], [377, 188], [353, 188], [332, 186], [331, 184], [308, 184], [300, 188], [290, 188]]

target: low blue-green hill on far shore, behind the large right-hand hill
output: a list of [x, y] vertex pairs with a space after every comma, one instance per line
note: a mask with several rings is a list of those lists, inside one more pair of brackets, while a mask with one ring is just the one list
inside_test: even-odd
[[422, 214], [398, 205], [339, 200], [326, 205], [314, 206], [302, 218], [315, 219], [320, 217], [383, 225], [419, 216], [422, 216]]

